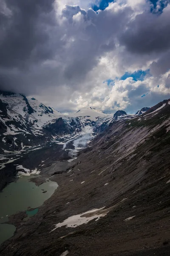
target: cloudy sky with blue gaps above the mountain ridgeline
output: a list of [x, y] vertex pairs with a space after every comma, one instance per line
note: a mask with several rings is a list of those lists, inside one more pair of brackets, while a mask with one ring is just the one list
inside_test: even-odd
[[170, 0], [1, 0], [0, 89], [62, 113], [170, 98]]

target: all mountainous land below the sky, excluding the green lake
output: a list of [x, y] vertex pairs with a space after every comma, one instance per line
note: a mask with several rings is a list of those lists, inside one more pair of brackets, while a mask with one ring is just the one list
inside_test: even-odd
[[[41, 204], [10, 201], [22, 179]], [[135, 115], [65, 116], [1, 91], [0, 189], [0, 229], [14, 227], [2, 256], [170, 255], [170, 99]]]

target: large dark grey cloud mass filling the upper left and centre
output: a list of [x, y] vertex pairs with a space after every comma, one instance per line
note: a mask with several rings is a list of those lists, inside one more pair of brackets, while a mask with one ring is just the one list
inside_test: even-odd
[[62, 84], [81, 89], [79, 84], [100, 57], [114, 49], [114, 36], [132, 12], [127, 7], [96, 14], [65, 6], [65, 20], [59, 24], [54, 0], [4, 3], [8, 13], [0, 13], [0, 86], [26, 94]]

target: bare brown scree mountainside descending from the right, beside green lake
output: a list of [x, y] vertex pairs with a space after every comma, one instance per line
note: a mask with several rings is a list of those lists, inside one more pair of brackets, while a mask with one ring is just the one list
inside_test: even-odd
[[[111, 122], [79, 152], [71, 170], [57, 173], [58, 162], [42, 169], [59, 187], [28, 221], [17, 215], [17, 231], [0, 255], [169, 256], [169, 102]], [[73, 215], [88, 221], [54, 230]]]

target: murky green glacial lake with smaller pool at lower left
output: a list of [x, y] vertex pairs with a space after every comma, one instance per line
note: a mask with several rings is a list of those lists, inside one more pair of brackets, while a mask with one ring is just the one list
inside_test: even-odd
[[[28, 217], [33, 216], [38, 212], [38, 207], [50, 198], [58, 187], [56, 182], [48, 179], [40, 186], [36, 186], [30, 181], [32, 177], [35, 175], [21, 176], [16, 182], [9, 183], [0, 193], [0, 243], [5, 241], [6, 237], [13, 236], [15, 231], [13, 225], [3, 224], [8, 221], [8, 216], [18, 211], [27, 211], [28, 207], [35, 208], [27, 211]], [[45, 190], [47, 192], [42, 193]]]

